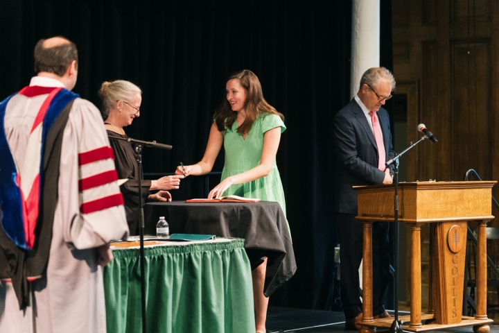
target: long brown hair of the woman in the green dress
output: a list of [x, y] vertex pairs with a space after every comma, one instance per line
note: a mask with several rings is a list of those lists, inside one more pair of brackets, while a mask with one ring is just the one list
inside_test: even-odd
[[[252, 71], [249, 69], [237, 71], [236, 73], [231, 74], [231, 76], [227, 78], [227, 81], [232, 80], [233, 78], [237, 78], [241, 87], [243, 87], [246, 91], [246, 101], [244, 105], [246, 118], [245, 121], [243, 121], [243, 123], [238, 127], [238, 133], [248, 133], [249, 130], [251, 130], [256, 117], [265, 112], [277, 114], [282, 120], [284, 120], [283, 114], [277, 112], [277, 110], [275, 110], [275, 108], [267, 103], [267, 101], [263, 98], [260, 80]], [[229, 101], [227, 101], [227, 98], [222, 100], [222, 103], [220, 103], [220, 106], [213, 115], [213, 119], [215, 120], [216, 126], [220, 132], [225, 130], [225, 128], [232, 128], [234, 121], [237, 119], [237, 112], [232, 111], [231, 105]]]

